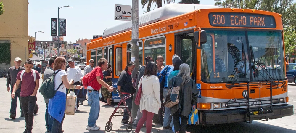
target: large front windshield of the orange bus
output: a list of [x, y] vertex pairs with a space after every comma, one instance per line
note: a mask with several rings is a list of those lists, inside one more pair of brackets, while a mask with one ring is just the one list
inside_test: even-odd
[[281, 32], [207, 30], [201, 80], [237, 83], [284, 80]]

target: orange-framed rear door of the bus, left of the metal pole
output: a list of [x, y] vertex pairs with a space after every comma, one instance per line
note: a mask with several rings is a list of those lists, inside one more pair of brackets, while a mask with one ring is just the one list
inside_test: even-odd
[[[117, 88], [117, 81], [119, 74], [122, 71], [122, 46], [113, 45], [112, 48], [109, 48], [109, 60], [112, 65], [112, 86]], [[109, 61], [108, 60], [108, 61]], [[112, 92], [112, 99], [114, 102], [119, 102], [120, 97], [118, 93]]]

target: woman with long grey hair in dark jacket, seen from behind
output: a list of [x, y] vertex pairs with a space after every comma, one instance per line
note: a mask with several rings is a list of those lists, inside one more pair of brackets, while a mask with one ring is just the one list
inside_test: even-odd
[[[190, 78], [189, 65], [183, 63], [180, 65], [180, 71], [177, 76], [174, 76], [170, 81], [168, 87], [180, 87], [179, 103], [171, 107], [171, 114], [173, 114], [173, 123], [176, 133], [185, 133], [191, 108], [195, 109], [197, 90], [195, 82]], [[181, 118], [181, 123], [180, 123]]]

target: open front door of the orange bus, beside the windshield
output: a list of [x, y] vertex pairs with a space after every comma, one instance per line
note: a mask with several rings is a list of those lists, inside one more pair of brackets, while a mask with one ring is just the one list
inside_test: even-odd
[[193, 80], [195, 80], [196, 58], [193, 57], [196, 57], [196, 48], [193, 31], [176, 33], [175, 39], [176, 54], [179, 55], [184, 63], [189, 65], [190, 71], [193, 72], [191, 73], [191, 77], [193, 78]]

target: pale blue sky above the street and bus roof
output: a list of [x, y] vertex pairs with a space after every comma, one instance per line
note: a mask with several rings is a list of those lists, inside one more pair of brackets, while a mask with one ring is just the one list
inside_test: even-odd
[[[178, 3], [180, 0], [176, 0]], [[28, 0], [28, 28], [29, 36], [36, 40], [51, 41], [50, 18], [58, 17], [67, 19], [67, 36], [64, 41], [76, 42], [79, 38], [92, 39], [93, 35], [102, 35], [104, 30], [124, 21], [114, 20], [114, 5], [132, 5], [132, 0]], [[139, 15], [146, 11], [142, 9], [139, 0]], [[214, 5], [214, 0], [200, 0], [200, 4]], [[155, 4], [151, 6], [155, 7]], [[157, 8], [157, 7], [156, 7]]]

